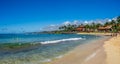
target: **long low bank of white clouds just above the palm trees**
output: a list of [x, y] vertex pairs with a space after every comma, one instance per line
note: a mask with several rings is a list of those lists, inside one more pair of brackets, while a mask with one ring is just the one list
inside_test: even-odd
[[[113, 18], [115, 20], [115, 18]], [[80, 25], [80, 24], [92, 24], [94, 23], [101, 23], [104, 24], [105, 22], [110, 22], [112, 19], [106, 18], [106, 19], [96, 19], [96, 20], [74, 20], [74, 21], [65, 21], [62, 24], [51, 24], [49, 26], [44, 27], [42, 30], [43, 31], [52, 31], [52, 30], [58, 30], [60, 26], [63, 25], [69, 25], [69, 24], [76, 24], [76, 25]]]

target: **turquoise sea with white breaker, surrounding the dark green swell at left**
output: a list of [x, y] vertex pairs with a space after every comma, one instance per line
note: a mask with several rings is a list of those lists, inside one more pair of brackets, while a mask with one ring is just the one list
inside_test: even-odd
[[5, 43], [37, 44], [30, 49], [0, 50], [0, 64], [42, 64], [60, 58], [76, 46], [101, 38], [78, 34], [0, 34], [0, 45]]

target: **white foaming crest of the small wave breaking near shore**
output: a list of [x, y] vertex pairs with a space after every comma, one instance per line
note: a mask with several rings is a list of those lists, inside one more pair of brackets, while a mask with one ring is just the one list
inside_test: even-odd
[[64, 42], [64, 41], [75, 41], [75, 40], [81, 40], [83, 38], [68, 38], [68, 39], [61, 39], [61, 40], [54, 40], [54, 41], [45, 41], [45, 42], [40, 42], [41, 44], [50, 44], [50, 43], [59, 43], [59, 42]]

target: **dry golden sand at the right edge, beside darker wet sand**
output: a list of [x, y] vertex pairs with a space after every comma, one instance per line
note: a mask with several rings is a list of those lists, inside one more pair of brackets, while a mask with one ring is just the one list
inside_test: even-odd
[[107, 54], [107, 64], [120, 64], [120, 35], [106, 41], [104, 48]]

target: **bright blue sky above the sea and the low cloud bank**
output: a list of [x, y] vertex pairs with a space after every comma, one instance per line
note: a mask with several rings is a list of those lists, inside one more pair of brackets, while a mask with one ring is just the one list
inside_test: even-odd
[[[0, 33], [52, 30], [55, 25], [112, 19], [120, 0], [0, 0]], [[51, 27], [51, 29], [49, 29]]]

